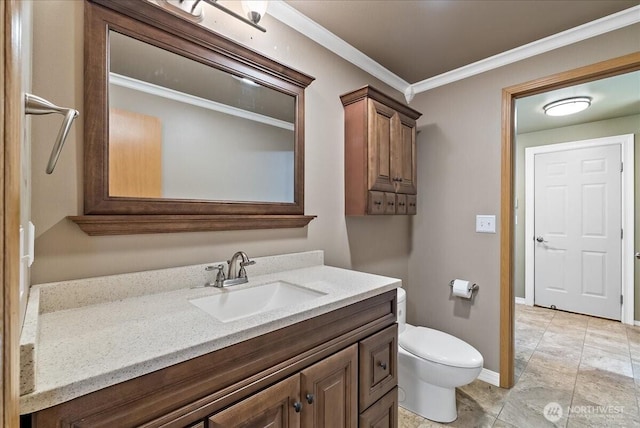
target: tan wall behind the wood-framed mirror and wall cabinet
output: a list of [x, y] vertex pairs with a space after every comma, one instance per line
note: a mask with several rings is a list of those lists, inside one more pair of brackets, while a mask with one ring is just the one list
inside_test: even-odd
[[226, 260], [237, 250], [257, 257], [310, 249], [325, 250], [330, 265], [407, 279], [407, 217], [345, 219], [339, 99], [369, 83], [399, 99], [402, 95], [268, 15], [265, 34], [226, 15], [217, 28], [316, 78], [306, 91], [305, 211], [318, 218], [305, 229], [85, 235], [66, 219], [82, 213], [83, 6], [80, 1], [34, 2], [34, 14], [34, 91], [75, 106], [80, 117], [51, 176], [44, 168], [60, 119], [34, 122], [33, 218], [39, 235], [32, 283]]

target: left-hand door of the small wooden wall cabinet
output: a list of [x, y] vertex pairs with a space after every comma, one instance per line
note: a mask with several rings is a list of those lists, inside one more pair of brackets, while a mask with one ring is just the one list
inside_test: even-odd
[[395, 192], [392, 177], [391, 146], [398, 133], [397, 113], [395, 110], [368, 100], [368, 152], [369, 152], [369, 190]]

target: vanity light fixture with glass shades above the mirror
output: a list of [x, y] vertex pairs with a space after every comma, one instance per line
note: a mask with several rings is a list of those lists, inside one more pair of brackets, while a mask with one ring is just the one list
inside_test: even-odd
[[251, 25], [263, 33], [267, 31], [264, 27], [258, 25], [258, 22], [260, 22], [260, 19], [267, 11], [268, 1], [266, 0], [242, 0], [242, 10], [247, 17], [228, 9], [226, 6], [220, 4], [218, 0], [159, 0], [158, 3], [167, 9], [173, 10], [180, 16], [196, 22], [201, 22], [204, 18], [202, 5], [200, 3], [210, 4], [216, 9], [233, 16], [245, 24]]

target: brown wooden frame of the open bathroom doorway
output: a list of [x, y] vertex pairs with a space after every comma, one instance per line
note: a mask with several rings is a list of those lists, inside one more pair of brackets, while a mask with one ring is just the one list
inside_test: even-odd
[[514, 142], [515, 101], [554, 89], [611, 77], [640, 69], [640, 52], [557, 73], [502, 90], [500, 163], [500, 386], [514, 382]]

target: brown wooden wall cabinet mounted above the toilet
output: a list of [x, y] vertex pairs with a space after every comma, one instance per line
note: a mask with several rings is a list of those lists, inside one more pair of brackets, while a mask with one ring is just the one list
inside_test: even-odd
[[415, 214], [416, 120], [421, 113], [371, 86], [340, 99], [345, 214]]

